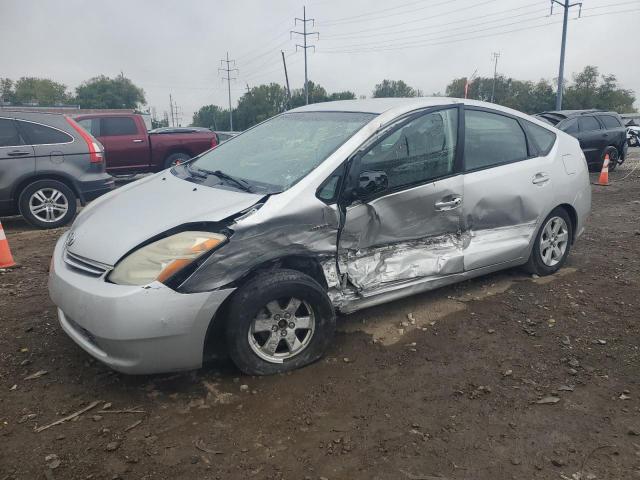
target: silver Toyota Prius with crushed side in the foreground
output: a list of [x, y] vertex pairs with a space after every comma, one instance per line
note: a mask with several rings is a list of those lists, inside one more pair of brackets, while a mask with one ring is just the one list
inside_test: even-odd
[[451, 98], [288, 111], [113, 191], [59, 240], [64, 331], [121, 372], [307, 365], [349, 313], [489, 272], [563, 266], [591, 208], [578, 141]]

